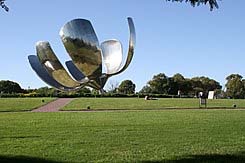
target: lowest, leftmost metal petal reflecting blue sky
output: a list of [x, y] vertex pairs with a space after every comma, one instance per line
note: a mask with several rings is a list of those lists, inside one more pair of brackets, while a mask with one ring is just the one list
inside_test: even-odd
[[57, 82], [54, 78], [52, 78], [47, 70], [42, 66], [42, 64], [39, 62], [39, 59], [35, 55], [29, 55], [28, 56], [29, 63], [32, 67], [32, 69], [36, 72], [36, 74], [48, 85], [62, 90], [62, 91], [68, 91], [68, 90], [73, 90], [74, 88], [69, 88], [66, 86], [63, 86], [59, 82]]

